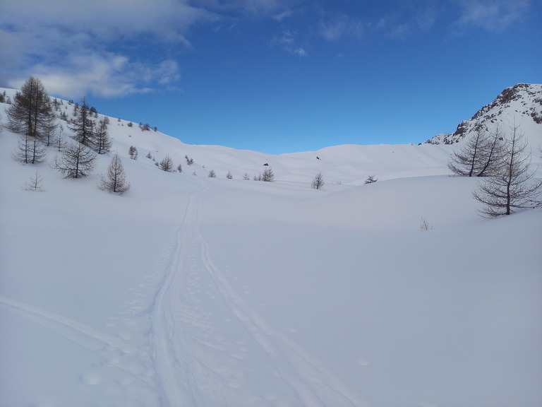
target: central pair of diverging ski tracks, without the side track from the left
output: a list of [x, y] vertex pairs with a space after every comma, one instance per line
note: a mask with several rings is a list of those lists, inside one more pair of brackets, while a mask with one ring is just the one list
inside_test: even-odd
[[[284, 405], [363, 406], [364, 403], [354, 391], [325, 370], [318, 360], [287, 336], [275, 331], [236, 293], [224, 273], [215, 266], [210, 247], [199, 228], [202, 216], [201, 199], [205, 189], [203, 185], [190, 196], [181, 227], [176, 234], [174, 253], [152, 302], [151, 352], [159, 379], [162, 406], [235, 403], [229, 400], [224, 392], [230, 391], [228, 394], [231, 395], [231, 388], [241, 387], [241, 382], [237, 379], [242, 379], [243, 374], [236, 372], [231, 365], [224, 365], [220, 360], [241, 360], [241, 353], [247, 349], [239, 346], [243, 344], [242, 341], [237, 342], [235, 349], [225, 343], [227, 341], [224, 341], [224, 338], [215, 337], [214, 341], [209, 338], [212, 329], [205, 321], [205, 313], [198, 310], [200, 296], [189, 295], [190, 286], [197, 285], [194, 280], [191, 281], [190, 276], [196, 276], [195, 281], [204, 277], [211, 278], [215, 289], [229, 308], [231, 317], [239, 320], [263, 350], [268, 370], [275, 372], [275, 377], [279, 377], [293, 389], [296, 395], [294, 400], [285, 400]], [[230, 340], [233, 343], [233, 338]], [[216, 354], [209, 357], [202, 348], [214, 353], [224, 353], [224, 358], [217, 357]], [[258, 369], [267, 367], [258, 366]], [[258, 405], [275, 405], [275, 399], [281, 394], [250, 396], [253, 401], [258, 401]]]

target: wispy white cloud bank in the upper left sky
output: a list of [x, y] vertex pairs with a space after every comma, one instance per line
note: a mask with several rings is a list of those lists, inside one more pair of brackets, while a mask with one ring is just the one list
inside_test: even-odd
[[190, 47], [191, 25], [216, 16], [174, 0], [3, 1], [0, 79], [11, 86], [40, 77], [51, 93], [76, 98], [147, 92], [179, 79], [174, 61], [139, 58], [135, 46]]

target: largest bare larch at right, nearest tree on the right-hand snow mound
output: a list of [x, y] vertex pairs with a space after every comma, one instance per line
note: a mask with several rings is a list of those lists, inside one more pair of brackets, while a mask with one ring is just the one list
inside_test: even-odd
[[536, 206], [536, 196], [542, 181], [531, 179], [534, 171], [529, 169], [531, 154], [526, 153], [527, 142], [519, 126], [512, 127], [512, 136], [505, 140], [502, 165], [495, 173], [479, 182], [473, 192], [474, 199], [484, 206], [481, 216], [495, 218], [510, 215], [514, 208]]

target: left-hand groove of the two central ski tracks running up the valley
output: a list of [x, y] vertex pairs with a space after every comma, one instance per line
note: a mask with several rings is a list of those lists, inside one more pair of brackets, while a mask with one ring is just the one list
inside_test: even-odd
[[[181, 260], [185, 251], [185, 237], [190, 234], [189, 225], [196, 213], [194, 206], [198, 205], [198, 196], [203, 189], [205, 184], [193, 191], [188, 198], [181, 226], [176, 232], [174, 253], [151, 305], [151, 356], [159, 381], [159, 398], [163, 407], [180, 407], [186, 400], [191, 400], [193, 406], [201, 405], [195, 378], [186, 360], [178, 354], [176, 345], [180, 344], [179, 341], [174, 341], [176, 326], [173, 313], [176, 308], [175, 296], [179, 295], [179, 290], [172, 288], [175, 287], [178, 274], [182, 273]], [[188, 347], [183, 346], [183, 350], [189, 355]], [[184, 357], [186, 358], [186, 355]]]

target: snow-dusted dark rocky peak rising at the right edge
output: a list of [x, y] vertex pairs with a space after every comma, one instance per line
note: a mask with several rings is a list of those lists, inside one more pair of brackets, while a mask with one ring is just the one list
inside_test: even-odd
[[538, 124], [540, 127], [536, 128], [542, 134], [542, 84], [519, 83], [506, 88], [492, 103], [478, 110], [470, 120], [461, 122], [454, 133], [438, 134], [426, 143], [458, 143], [470, 136], [477, 126], [491, 131], [496, 126], [511, 126], [513, 122], [529, 129], [533, 128], [532, 124]]

